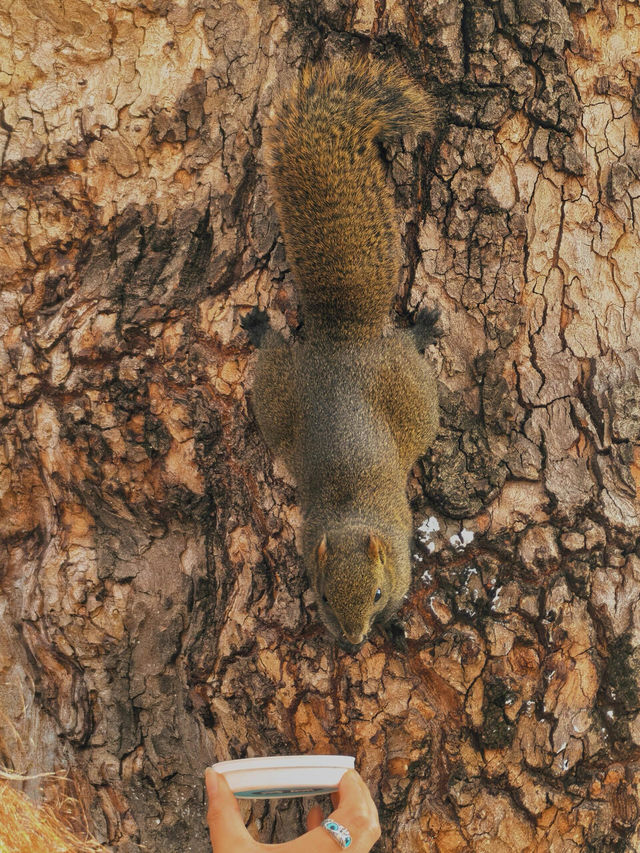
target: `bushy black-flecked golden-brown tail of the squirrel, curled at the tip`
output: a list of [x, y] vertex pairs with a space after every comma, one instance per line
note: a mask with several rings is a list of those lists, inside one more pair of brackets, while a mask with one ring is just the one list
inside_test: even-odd
[[398, 283], [400, 239], [375, 144], [431, 130], [435, 99], [397, 65], [306, 68], [268, 131], [268, 168], [305, 324], [379, 334]]

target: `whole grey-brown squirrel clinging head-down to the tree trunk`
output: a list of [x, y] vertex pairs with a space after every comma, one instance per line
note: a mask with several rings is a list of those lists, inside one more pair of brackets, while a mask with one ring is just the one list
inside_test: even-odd
[[[347, 647], [392, 617], [411, 578], [407, 476], [435, 437], [436, 381], [420, 352], [438, 311], [389, 326], [400, 230], [377, 141], [433, 128], [432, 96], [401, 68], [307, 67], [266, 137], [268, 179], [304, 325], [289, 345], [254, 308], [253, 408], [294, 476], [320, 616]], [[300, 339], [301, 338], [301, 339]]]

